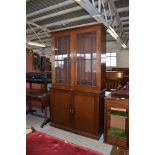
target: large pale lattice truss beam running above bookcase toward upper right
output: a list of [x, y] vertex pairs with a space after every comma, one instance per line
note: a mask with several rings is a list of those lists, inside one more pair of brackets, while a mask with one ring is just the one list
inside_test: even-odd
[[[119, 14], [112, 0], [108, 1], [98, 0], [98, 3], [100, 5], [102, 4], [103, 11], [101, 10], [101, 7], [99, 7], [99, 4], [98, 7], [96, 7], [89, 0], [74, 0], [74, 1], [77, 2], [82, 8], [84, 8], [90, 14], [91, 17], [93, 17], [99, 23], [102, 23], [105, 27], [107, 28], [112, 27], [113, 30], [116, 32], [115, 30], [116, 28], [112, 24], [117, 25], [117, 27], [119, 26], [120, 33], [115, 39], [121, 44], [126, 40], [123, 25], [121, 23]], [[108, 5], [108, 10], [105, 10], [105, 5]], [[107, 14], [106, 14], [107, 11], [109, 12], [109, 15], [111, 17], [110, 23], [107, 20]], [[112, 15], [113, 13], [115, 14], [115, 16]]]

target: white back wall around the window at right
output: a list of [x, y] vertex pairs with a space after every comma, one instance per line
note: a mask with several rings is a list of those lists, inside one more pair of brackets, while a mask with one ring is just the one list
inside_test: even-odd
[[[128, 68], [129, 67], [129, 49], [121, 47], [120, 43], [111, 41], [106, 43], [106, 52], [117, 53], [117, 67]], [[109, 68], [110, 69], [110, 68]]]

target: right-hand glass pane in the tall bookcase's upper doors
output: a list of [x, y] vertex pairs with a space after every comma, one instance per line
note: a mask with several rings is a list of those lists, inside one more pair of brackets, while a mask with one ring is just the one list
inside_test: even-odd
[[96, 33], [77, 34], [77, 85], [96, 86]]

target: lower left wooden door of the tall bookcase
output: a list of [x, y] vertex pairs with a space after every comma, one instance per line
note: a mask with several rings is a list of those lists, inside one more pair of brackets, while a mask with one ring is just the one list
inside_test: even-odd
[[67, 90], [52, 90], [51, 121], [62, 126], [70, 126], [71, 93]]

